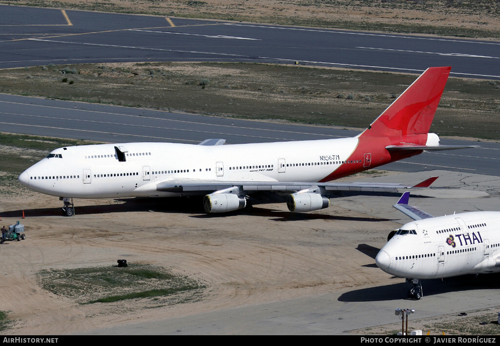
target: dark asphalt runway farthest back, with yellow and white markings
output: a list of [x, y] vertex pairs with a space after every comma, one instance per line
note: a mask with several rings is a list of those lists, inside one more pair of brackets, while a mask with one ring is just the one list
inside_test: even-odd
[[500, 79], [500, 42], [0, 5], [0, 68], [250, 61]]

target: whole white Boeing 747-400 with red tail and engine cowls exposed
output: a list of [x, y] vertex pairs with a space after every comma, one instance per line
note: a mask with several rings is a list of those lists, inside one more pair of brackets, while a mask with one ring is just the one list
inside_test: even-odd
[[117, 143], [62, 147], [19, 175], [24, 186], [64, 201], [72, 198], [204, 195], [206, 212], [243, 208], [250, 195], [286, 196], [290, 211], [325, 208], [338, 191], [396, 191], [434, 179], [395, 183], [335, 183], [343, 176], [421, 153], [465, 146], [439, 145], [427, 133], [451, 67], [427, 68], [367, 129], [352, 138], [220, 145]]

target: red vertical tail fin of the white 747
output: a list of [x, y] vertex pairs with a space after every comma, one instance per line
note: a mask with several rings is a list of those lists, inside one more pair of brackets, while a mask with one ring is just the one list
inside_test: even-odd
[[451, 67], [427, 68], [359, 137], [427, 133]]

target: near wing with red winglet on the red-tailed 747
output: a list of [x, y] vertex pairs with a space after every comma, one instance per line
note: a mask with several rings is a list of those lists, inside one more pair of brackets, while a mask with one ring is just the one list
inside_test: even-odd
[[362, 194], [362, 192], [397, 192], [398, 188], [427, 187], [435, 179], [437, 179], [437, 176], [430, 177], [415, 185], [385, 182], [220, 181], [174, 179], [157, 183], [156, 190], [167, 192], [213, 192], [238, 186], [245, 192], [251, 193], [256, 191], [296, 192], [319, 187], [323, 189], [326, 194], [333, 194], [336, 191], [358, 191]]

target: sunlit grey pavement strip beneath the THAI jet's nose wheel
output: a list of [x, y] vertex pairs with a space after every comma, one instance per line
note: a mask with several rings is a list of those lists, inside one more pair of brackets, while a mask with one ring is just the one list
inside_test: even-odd
[[[215, 311], [157, 322], [103, 328], [88, 335], [354, 335], [351, 331], [397, 322], [394, 310], [414, 308], [411, 319], [435, 317], [444, 313], [487, 308], [497, 303], [498, 287], [471, 284], [468, 290], [461, 276], [444, 284], [444, 291], [419, 301], [394, 298], [407, 290], [404, 283], [354, 289], [343, 294], [324, 294], [256, 306]], [[491, 278], [498, 279], [498, 276]], [[427, 289], [437, 287], [440, 280], [427, 283]], [[441, 282], [442, 286], [442, 282]], [[453, 290], [454, 287], [456, 290]], [[424, 288], [425, 289], [425, 288]], [[441, 288], [441, 290], [443, 290]], [[372, 299], [378, 295], [378, 299]], [[392, 298], [390, 297], [392, 295]], [[448, 297], [446, 297], [448, 295]], [[496, 301], [495, 301], [496, 299]], [[452, 307], [450, 306], [452, 305]], [[494, 314], [491, 319], [494, 319]], [[399, 322], [399, 324], [401, 324]], [[376, 327], [372, 328], [371, 330]], [[394, 328], [396, 329], [396, 328]], [[426, 332], [425, 330], [423, 332]], [[370, 332], [366, 332], [370, 334]], [[365, 334], [358, 334], [359, 336]]]

